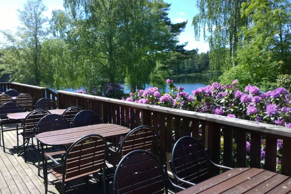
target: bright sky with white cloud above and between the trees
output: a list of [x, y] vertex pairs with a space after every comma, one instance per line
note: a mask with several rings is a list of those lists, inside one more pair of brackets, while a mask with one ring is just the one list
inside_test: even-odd
[[[192, 27], [192, 19], [198, 13], [196, 8], [196, 0], [165, 0], [171, 3], [169, 17], [173, 23], [188, 20], [187, 26], [179, 35], [180, 44], [188, 42], [185, 49], [191, 50], [198, 48], [198, 52], [207, 52], [209, 44], [204, 42], [203, 34], [200, 35], [200, 41], [195, 41], [194, 28]], [[17, 9], [22, 9], [23, 4], [27, 0], [0, 0], [0, 30], [15, 31], [19, 25], [17, 18]], [[51, 11], [54, 9], [64, 9], [63, 0], [43, 0], [44, 5], [48, 7], [48, 11], [44, 14], [51, 17]]]

